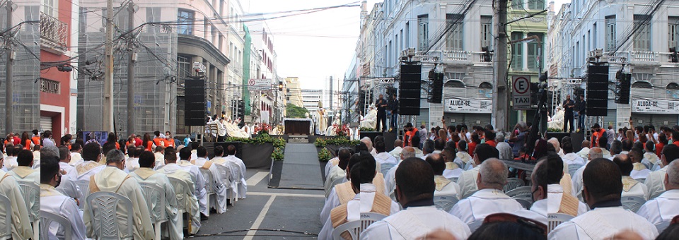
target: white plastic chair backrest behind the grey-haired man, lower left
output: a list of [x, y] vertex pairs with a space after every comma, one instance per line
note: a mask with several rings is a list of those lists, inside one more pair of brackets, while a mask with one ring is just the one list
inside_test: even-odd
[[[132, 201], [118, 193], [100, 191], [87, 196], [91, 226], [95, 239], [132, 239]], [[127, 209], [127, 216], [118, 216], [119, 208]]]

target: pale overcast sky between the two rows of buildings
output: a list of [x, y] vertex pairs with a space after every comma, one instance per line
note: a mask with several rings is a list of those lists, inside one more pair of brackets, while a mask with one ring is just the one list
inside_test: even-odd
[[[368, 11], [375, 2], [368, 1]], [[355, 0], [241, 1], [245, 14], [352, 3], [360, 5], [360, 1]], [[304, 89], [323, 89], [330, 76], [334, 79], [344, 78], [359, 37], [360, 13], [360, 6], [353, 6], [266, 20], [274, 35], [278, 75], [282, 78], [298, 77]]]

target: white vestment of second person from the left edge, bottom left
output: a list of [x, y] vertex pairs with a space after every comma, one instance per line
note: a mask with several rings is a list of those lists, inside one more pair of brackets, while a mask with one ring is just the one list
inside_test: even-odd
[[[83, 222], [83, 216], [78, 205], [76, 205], [76, 201], [73, 198], [64, 196], [54, 186], [40, 184], [40, 210], [66, 217], [71, 226], [65, 227], [71, 228], [72, 239], [86, 238], [85, 222]], [[49, 231], [47, 235], [50, 236], [50, 239], [64, 239], [65, 237], [64, 226], [57, 224], [57, 222], [52, 222], [49, 229], [41, 229], [41, 231]]]

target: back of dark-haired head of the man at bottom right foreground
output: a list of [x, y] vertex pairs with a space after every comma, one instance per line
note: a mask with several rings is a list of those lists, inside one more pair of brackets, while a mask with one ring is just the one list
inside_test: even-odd
[[605, 158], [597, 158], [587, 164], [582, 173], [586, 190], [585, 199], [590, 207], [601, 201], [620, 200], [622, 194], [622, 174], [615, 163]]

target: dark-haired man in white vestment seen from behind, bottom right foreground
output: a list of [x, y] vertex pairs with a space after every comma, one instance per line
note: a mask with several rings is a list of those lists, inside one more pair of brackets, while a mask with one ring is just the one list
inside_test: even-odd
[[632, 230], [644, 239], [654, 239], [658, 229], [644, 217], [622, 209], [622, 174], [605, 158], [587, 164], [582, 176], [584, 198], [593, 210], [559, 224], [549, 239], [607, 239], [623, 229]]

